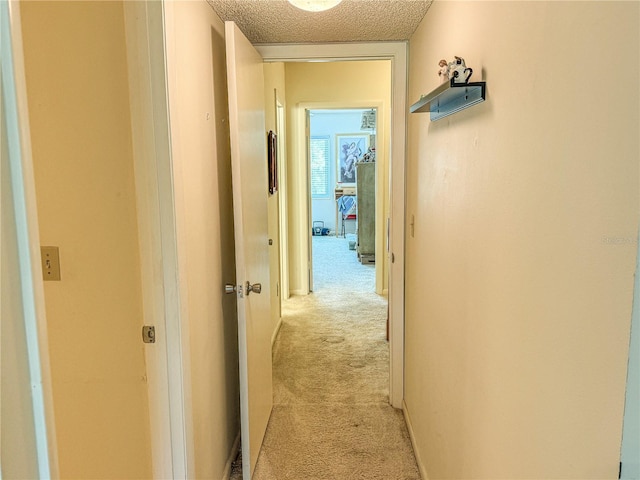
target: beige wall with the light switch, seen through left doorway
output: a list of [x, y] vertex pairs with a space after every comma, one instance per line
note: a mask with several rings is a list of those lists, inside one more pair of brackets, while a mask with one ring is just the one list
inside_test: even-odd
[[151, 475], [121, 2], [24, 2], [60, 475]]

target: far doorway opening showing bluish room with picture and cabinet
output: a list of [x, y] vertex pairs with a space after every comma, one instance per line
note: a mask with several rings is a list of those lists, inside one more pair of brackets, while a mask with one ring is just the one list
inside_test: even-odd
[[377, 108], [309, 109], [312, 290], [375, 291]]

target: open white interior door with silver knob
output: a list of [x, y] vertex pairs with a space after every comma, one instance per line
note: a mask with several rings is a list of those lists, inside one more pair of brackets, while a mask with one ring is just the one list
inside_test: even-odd
[[[243, 478], [250, 479], [271, 414], [267, 139], [262, 57], [225, 23], [240, 355]], [[248, 285], [262, 285], [262, 292]]]

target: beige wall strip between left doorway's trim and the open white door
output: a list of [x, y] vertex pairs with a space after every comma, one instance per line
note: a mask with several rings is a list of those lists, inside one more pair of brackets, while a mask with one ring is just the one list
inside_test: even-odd
[[[196, 478], [222, 478], [240, 430], [224, 25], [203, 1], [166, 5], [183, 334]], [[189, 380], [187, 381], [189, 383]]]

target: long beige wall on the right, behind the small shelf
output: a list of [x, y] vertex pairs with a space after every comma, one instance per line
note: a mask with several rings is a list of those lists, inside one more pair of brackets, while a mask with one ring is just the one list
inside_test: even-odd
[[411, 39], [411, 102], [454, 55], [488, 91], [409, 119], [405, 400], [431, 479], [617, 476], [639, 13], [436, 1]]

